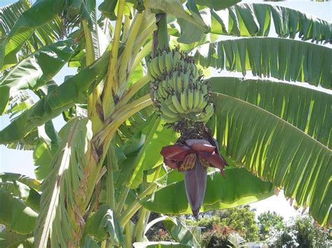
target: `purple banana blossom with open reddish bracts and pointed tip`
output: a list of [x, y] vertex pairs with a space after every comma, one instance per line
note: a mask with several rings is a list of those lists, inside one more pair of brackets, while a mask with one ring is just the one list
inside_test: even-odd
[[218, 143], [207, 140], [190, 139], [185, 144], [162, 147], [160, 152], [164, 163], [173, 169], [184, 172], [186, 195], [194, 217], [198, 218], [207, 187], [207, 167], [219, 168], [224, 175], [227, 162], [219, 154]]

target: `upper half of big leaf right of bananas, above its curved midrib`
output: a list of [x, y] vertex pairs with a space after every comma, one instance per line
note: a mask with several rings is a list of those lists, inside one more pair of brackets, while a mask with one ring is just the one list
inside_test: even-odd
[[277, 80], [209, 78], [211, 91], [247, 101], [332, 147], [332, 95]]

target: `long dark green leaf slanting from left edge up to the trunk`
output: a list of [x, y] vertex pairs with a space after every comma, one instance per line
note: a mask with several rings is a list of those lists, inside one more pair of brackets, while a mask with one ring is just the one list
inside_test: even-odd
[[57, 117], [74, 103], [83, 103], [90, 85], [102, 80], [108, 64], [109, 55], [104, 54], [91, 66], [83, 68], [74, 77], [67, 78], [62, 85], [39, 100], [32, 108], [23, 112], [11, 124], [0, 131], [0, 144], [11, 143], [25, 137], [37, 126]]

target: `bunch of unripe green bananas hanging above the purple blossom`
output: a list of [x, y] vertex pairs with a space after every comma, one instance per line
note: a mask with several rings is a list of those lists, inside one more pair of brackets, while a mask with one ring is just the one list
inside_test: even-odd
[[148, 75], [155, 87], [155, 105], [166, 122], [207, 122], [212, 117], [207, 82], [202, 80], [193, 57], [179, 49], [162, 50], [151, 60]]

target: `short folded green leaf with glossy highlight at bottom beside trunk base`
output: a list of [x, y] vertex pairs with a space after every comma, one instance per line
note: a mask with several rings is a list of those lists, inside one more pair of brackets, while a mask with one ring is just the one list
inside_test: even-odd
[[96, 241], [109, 240], [111, 245], [123, 244], [122, 228], [115, 214], [107, 205], [99, 207], [86, 222], [85, 232]]

